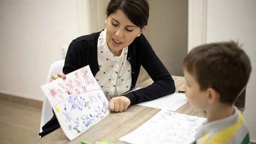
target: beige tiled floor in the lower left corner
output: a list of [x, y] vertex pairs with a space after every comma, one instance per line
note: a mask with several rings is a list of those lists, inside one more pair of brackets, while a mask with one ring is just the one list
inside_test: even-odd
[[41, 108], [0, 100], [0, 144], [32, 144], [39, 139]]

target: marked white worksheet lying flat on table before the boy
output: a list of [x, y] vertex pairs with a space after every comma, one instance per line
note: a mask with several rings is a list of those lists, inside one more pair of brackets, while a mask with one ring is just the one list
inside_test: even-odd
[[130, 144], [192, 144], [196, 129], [205, 120], [203, 117], [161, 110], [119, 140]]

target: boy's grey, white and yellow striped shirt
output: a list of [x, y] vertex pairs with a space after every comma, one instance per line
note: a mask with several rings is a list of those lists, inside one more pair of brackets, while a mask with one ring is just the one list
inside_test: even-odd
[[249, 130], [241, 112], [235, 108], [234, 115], [204, 123], [197, 129], [195, 144], [250, 144]]

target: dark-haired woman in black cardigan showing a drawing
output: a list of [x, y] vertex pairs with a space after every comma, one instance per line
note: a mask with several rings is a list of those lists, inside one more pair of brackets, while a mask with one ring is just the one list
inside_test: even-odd
[[[142, 34], [149, 18], [146, 0], [110, 0], [106, 11], [106, 29], [73, 40], [66, 55], [63, 73], [52, 80], [89, 64], [102, 91], [110, 100], [112, 112], [126, 111], [128, 106], [150, 101], [175, 92], [174, 80]], [[140, 66], [154, 83], [137, 91]], [[43, 127], [43, 136], [59, 128], [57, 118]]]

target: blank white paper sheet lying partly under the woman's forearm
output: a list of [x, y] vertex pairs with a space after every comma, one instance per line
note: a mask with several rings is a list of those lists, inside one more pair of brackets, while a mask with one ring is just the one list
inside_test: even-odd
[[[134, 91], [138, 89], [140, 88], [137, 88]], [[179, 107], [183, 106], [185, 103], [187, 103], [187, 98], [184, 94], [173, 93], [167, 96], [160, 97], [153, 101], [146, 101], [146, 102], [139, 103], [138, 105], [176, 111]]]

